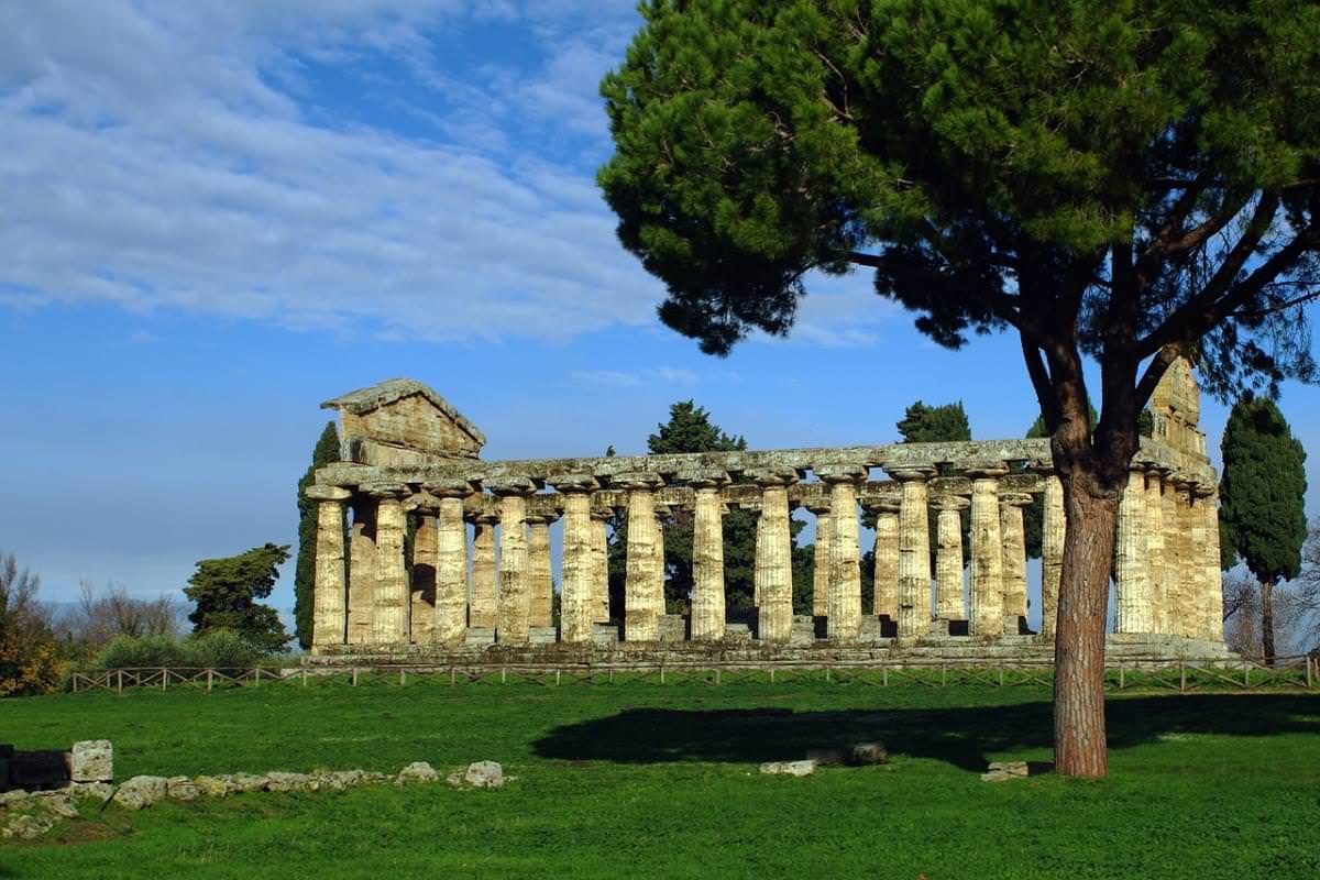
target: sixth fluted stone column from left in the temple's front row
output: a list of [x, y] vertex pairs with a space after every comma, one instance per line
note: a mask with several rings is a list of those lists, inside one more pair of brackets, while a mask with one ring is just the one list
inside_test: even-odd
[[623, 637], [659, 641], [664, 613], [664, 550], [655, 513], [656, 474], [620, 475], [614, 480], [628, 492], [627, 579], [623, 595]]

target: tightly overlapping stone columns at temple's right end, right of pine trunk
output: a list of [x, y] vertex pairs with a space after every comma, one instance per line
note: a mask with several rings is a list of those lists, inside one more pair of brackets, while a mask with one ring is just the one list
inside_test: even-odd
[[1222, 641], [1214, 486], [1134, 462], [1118, 504], [1114, 632]]

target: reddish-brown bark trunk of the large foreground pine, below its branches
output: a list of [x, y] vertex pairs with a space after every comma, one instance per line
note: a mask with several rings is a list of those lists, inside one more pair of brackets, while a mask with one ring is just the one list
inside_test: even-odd
[[1098, 777], [1105, 741], [1105, 617], [1118, 495], [1077, 468], [1064, 479], [1068, 530], [1055, 625], [1055, 770]]

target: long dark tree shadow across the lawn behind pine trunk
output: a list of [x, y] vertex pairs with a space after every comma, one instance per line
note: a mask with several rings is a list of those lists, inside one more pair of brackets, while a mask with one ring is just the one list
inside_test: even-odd
[[[1148, 697], [1107, 703], [1109, 745], [1168, 734], [1320, 734], [1320, 701], [1291, 694]], [[628, 708], [552, 730], [540, 757], [620, 764], [748, 763], [800, 759], [810, 748], [880, 740], [890, 753], [983, 772], [995, 752], [1049, 748], [1048, 702], [958, 708]]]

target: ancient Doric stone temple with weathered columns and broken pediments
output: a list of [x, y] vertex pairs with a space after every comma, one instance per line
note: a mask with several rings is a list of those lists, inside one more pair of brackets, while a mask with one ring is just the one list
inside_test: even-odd
[[[1053, 636], [1064, 504], [1044, 439], [500, 462], [480, 459], [484, 435], [417, 381], [323, 406], [341, 413], [345, 453], [308, 489], [319, 503], [313, 652], [327, 660], [726, 648], [879, 656], [1044, 649]], [[1119, 508], [1110, 650], [1222, 652], [1217, 478], [1189, 364], [1170, 369], [1151, 410], [1154, 437]], [[1043, 624], [1031, 632], [1023, 517], [1038, 497]], [[758, 524], [750, 624], [726, 615], [721, 522], [731, 508], [754, 511]], [[673, 509], [694, 524], [686, 613], [665, 606], [660, 522]], [[809, 615], [792, 602], [793, 509], [817, 526]], [[875, 515], [866, 613], [863, 511]], [[627, 522], [627, 574], [611, 619], [606, 538], [616, 515]]]

